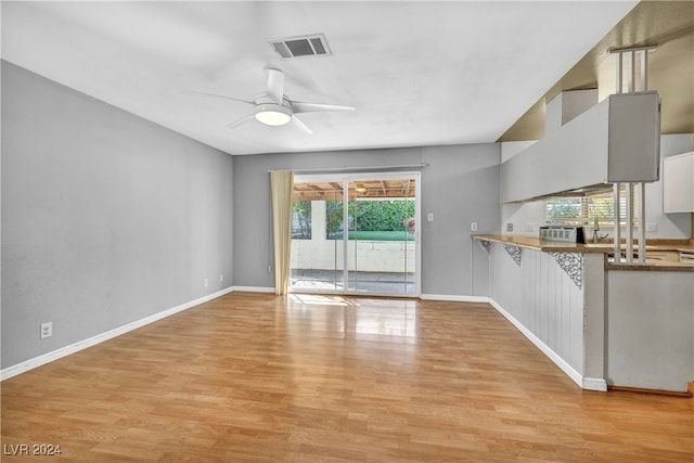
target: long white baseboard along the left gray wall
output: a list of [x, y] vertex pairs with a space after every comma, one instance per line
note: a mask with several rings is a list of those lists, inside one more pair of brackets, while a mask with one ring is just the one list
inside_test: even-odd
[[41, 366], [46, 363], [52, 362], [57, 359], [62, 359], [63, 357], [67, 357], [70, 353], [78, 352], [88, 347], [94, 346], [97, 344], [103, 343], [104, 340], [112, 339], [116, 336], [120, 336], [121, 334], [128, 333], [132, 330], [137, 330], [146, 324], [153, 323], [157, 320], [162, 320], [166, 317], [170, 317], [175, 313], [182, 312], [183, 310], [190, 309], [192, 307], [198, 306], [203, 303], [207, 303], [208, 300], [216, 299], [224, 294], [229, 294], [234, 291], [233, 286], [227, 287], [224, 290], [218, 291], [213, 294], [208, 294], [207, 296], [200, 297], [195, 300], [191, 300], [185, 304], [181, 304], [180, 306], [172, 307], [170, 309], [151, 314], [140, 320], [136, 320], [133, 322], [124, 324], [123, 326], [118, 326], [114, 330], [107, 331], [105, 333], [98, 334], [95, 336], [89, 337], [87, 339], [78, 340], [75, 344], [70, 344], [69, 346], [61, 347], [60, 349], [55, 349], [48, 353], [43, 353], [41, 356], [35, 357], [29, 360], [25, 360], [21, 363], [14, 364], [12, 366], [8, 366], [5, 369], [0, 370], [0, 381], [4, 381], [11, 378], [12, 376], [16, 376], [21, 373], [27, 372], [35, 368]]

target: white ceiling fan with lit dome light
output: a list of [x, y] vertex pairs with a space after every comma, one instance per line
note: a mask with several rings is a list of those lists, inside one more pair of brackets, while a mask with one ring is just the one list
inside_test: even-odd
[[250, 104], [254, 106], [254, 113], [239, 120], [234, 120], [229, 124], [227, 128], [237, 127], [250, 119], [256, 119], [267, 126], [284, 126], [290, 121], [294, 123], [299, 129], [307, 133], [313, 133], [306, 124], [304, 124], [298, 117], [299, 113], [316, 113], [316, 112], [344, 112], [355, 111], [354, 106], [340, 106], [336, 104], [323, 104], [323, 103], [307, 103], [303, 101], [292, 100], [284, 93], [284, 73], [280, 69], [272, 67], [266, 67], [265, 72], [268, 75], [268, 88], [264, 93], [260, 93], [253, 101], [243, 100], [234, 97], [228, 97], [223, 94], [207, 93], [195, 90], [189, 90], [192, 93], [198, 93], [209, 97], [224, 98], [227, 100], [240, 101], [242, 103]]

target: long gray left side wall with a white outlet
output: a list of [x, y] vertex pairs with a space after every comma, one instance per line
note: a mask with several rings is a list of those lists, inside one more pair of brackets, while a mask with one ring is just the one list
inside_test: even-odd
[[228, 154], [2, 62], [2, 368], [231, 285], [232, 177]]

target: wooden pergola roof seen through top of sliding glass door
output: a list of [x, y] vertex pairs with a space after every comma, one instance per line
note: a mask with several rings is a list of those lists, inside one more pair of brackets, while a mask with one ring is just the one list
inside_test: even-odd
[[[349, 200], [414, 197], [414, 179], [357, 180], [349, 182]], [[294, 201], [342, 201], [342, 182], [307, 182], [294, 184]]]

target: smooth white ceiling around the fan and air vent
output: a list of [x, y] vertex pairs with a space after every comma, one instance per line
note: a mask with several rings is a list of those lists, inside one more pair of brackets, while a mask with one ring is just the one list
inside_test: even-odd
[[[634, 1], [2, 1], [2, 59], [230, 154], [496, 141]], [[267, 40], [323, 33], [329, 57], [282, 60]], [[226, 126], [264, 67], [313, 130]]]

